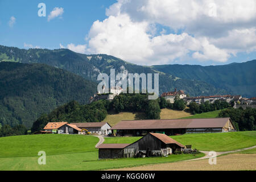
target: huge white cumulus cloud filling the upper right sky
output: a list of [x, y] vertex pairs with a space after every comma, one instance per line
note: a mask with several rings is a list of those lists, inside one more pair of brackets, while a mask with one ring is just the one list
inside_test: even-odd
[[[90, 53], [152, 65], [188, 57], [225, 62], [238, 52], [255, 51], [254, 0], [118, 0], [106, 15], [86, 37]], [[173, 32], [157, 30], [158, 24]]]

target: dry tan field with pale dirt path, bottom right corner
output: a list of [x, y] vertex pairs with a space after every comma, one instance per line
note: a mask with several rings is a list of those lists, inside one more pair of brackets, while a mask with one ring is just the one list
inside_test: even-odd
[[[253, 147], [242, 148], [239, 150], [216, 152], [216, 156], [222, 154], [229, 154], [233, 152], [239, 152], [243, 150], [249, 150]], [[205, 154], [202, 158], [183, 160], [175, 163], [164, 164], [152, 164], [147, 166], [121, 168], [113, 170], [121, 171], [212, 171], [212, 170], [256, 170], [256, 154], [230, 154], [219, 156], [217, 158], [217, 164], [209, 164], [209, 159], [212, 155], [209, 155], [209, 151], [200, 151]]]

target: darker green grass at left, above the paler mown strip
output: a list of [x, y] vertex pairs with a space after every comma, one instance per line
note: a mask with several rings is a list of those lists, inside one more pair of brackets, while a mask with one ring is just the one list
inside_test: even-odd
[[89, 152], [95, 150], [98, 138], [86, 135], [21, 135], [0, 138], [0, 158]]

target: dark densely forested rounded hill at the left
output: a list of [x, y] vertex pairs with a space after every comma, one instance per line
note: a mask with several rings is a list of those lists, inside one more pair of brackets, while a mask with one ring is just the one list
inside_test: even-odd
[[43, 113], [76, 100], [86, 104], [92, 81], [45, 64], [0, 63], [0, 123], [31, 127]]

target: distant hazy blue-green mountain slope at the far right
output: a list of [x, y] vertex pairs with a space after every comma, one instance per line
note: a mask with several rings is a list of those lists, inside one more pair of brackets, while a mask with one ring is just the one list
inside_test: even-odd
[[204, 81], [243, 97], [256, 96], [256, 60], [206, 67], [173, 64], [154, 65], [151, 68], [184, 79]]

